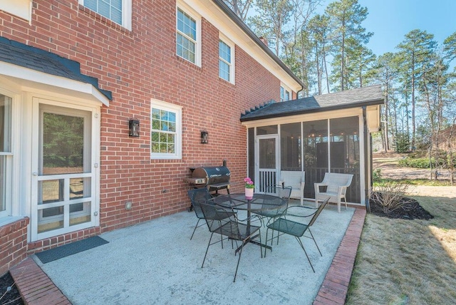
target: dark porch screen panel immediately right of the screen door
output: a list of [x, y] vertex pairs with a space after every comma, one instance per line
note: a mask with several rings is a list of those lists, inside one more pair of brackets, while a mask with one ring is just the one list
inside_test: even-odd
[[301, 170], [301, 123], [280, 125], [281, 170]]

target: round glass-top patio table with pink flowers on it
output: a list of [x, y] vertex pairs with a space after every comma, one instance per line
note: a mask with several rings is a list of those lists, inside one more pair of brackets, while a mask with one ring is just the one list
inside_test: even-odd
[[[254, 197], [250, 200], [245, 197], [244, 193], [218, 195], [217, 197], [212, 198], [212, 200], [222, 207], [232, 207], [234, 210], [247, 211], [247, 227], [250, 226], [252, 212], [277, 210], [280, 207], [286, 206], [287, 202], [287, 200], [278, 196], [257, 193], [254, 193]], [[267, 249], [272, 249], [270, 246], [261, 244], [253, 239], [250, 239], [248, 242], [252, 242], [252, 244], [257, 244], [261, 247], [266, 247]], [[236, 252], [238, 252], [238, 250], [239, 248]]]

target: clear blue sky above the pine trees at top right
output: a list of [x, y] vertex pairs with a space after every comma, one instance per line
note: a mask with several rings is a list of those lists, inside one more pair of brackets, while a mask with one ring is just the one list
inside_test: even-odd
[[456, 0], [358, 0], [358, 4], [368, 9], [361, 25], [374, 33], [368, 48], [377, 56], [397, 52], [395, 46], [414, 29], [434, 34], [439, 44], [456, 31]]

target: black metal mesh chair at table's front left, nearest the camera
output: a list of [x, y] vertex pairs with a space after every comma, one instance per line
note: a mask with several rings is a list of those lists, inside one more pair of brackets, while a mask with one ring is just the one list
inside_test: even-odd
[[[206, 200], [205, 202], [200, 202], [201, 210], [204, 214], [204, 218], [206, 219], [207, 227], [209, 227], [209, 231], [211, 232], [211, 237], [209, 239], [209, 243], [207, 244], [206, 254], [204, 254], [204, 259], [202, 260], [201, 268], [204, 266], [204, 261], [207, 257], [207, 252], [209, 250], [209, 246], [212, 244], [216, 244], [217, 242], [212, 242], [212, 236], [214, 233], [221, 234], [222, 236], [226, 236], [228, 239], [232, 239], [236, 241], [241, 241], [242, 244], [239, 246], [234, 255], [239, 252], [239, 257], [237, 259], [236, 265], [236, 272], [234, 272], [234, 279], [236, 281], [237, 269], [239, 267], [239, 261], [241, 260], [242, 249], [244, 248], [245, 244], [247, 244], [250, 239], [255, 239], [259, 237], [259, 242], [261, 244], [261, 234], [259, 232], [260, 227], [254, 226], [252, 224], [247, 225], [239, 222], [236, 217], [236, 213], [232, 208], [221, 207], [219, 205], [214, 205], [213, 202], [210, 200]], [[217, 219], [214, 220], [214, 219]], [[260, 254], [263, 257], [263, 252], [260, 247]]]

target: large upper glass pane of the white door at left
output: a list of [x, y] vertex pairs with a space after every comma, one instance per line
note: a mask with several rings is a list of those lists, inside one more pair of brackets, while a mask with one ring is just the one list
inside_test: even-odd
[[83, 172], [84, 119], [43, 114], [43, 175]]

